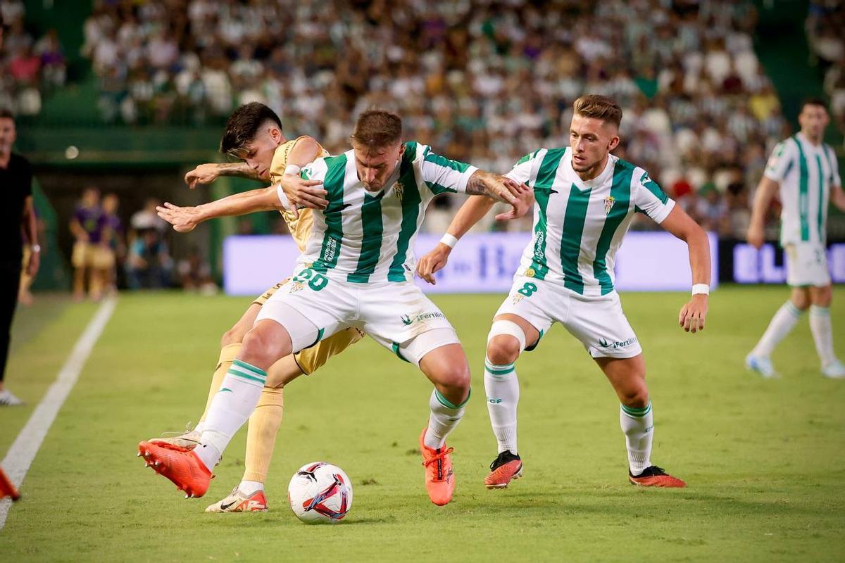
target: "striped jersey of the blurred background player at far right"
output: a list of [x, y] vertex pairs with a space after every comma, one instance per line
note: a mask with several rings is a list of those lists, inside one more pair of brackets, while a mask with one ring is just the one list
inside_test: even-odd
[[781, 244], [824, 244], [831, 187], [842, 186], [833, 149], [815, 146], [798, 133], [777, 143], [765, 174], [780, 183]]

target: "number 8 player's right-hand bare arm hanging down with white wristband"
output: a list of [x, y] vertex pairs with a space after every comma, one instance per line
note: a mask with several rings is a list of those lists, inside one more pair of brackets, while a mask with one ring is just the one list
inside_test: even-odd
[[[686, 305], [681, 307], [678, 324], [688, 333], [704, 330], [708, 295], [707, 293], [696, 293], [695, 286], [701, 287], [710, 284], [710, 241], [707, 238], [707, 233], [679, 205], [672, 208], [672, 211], [660, 225], [663, 229], [686, 242], [690, 249], [694, 295]], [[704, 289], [709, 291], [706, 287]]]

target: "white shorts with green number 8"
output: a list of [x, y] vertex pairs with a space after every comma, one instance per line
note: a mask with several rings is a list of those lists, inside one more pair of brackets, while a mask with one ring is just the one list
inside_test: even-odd
[[[510, 294], [496, 311], [497, 317], [504, 314], [524, 318], [537, 328], [540, 338], [559, 322], [581, 340], [593, 358], [633, 358], [642, 353], [615, 291], [602, 297], [585, 297], [563, 284], [516, 276]], [[526, 350], [538, 343], [529, 343]]]

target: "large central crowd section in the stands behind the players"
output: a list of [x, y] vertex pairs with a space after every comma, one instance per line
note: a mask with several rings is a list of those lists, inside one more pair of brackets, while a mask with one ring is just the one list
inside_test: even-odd
[[751, 3], [727, 1], [118, 0], [87, 20], [85, 52], [107, 119], [208, 122], [259, 100], [337, 151], [357, 112], [386, 106], [408, 138], [493, 171], [567, 143], [578, 95], [611, 95], [625, 112], [617, 154], [739, 235], [747, 213], [728, 210], [786, 125], [755, 19]]

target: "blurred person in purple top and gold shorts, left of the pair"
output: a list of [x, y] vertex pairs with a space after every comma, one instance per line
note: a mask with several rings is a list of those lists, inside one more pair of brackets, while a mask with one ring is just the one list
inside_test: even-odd
[[85, 297], [86, 281], [90, 299], [102, 297], [108, 268], [114, 263], [109, 248], [109, 231], [100, 205], [100, 191], [86, 187], [76, 205], [74, 217], [70, 219], [70, 232], [74, 235], [71, 263], [74, 266], [75, 300]]

